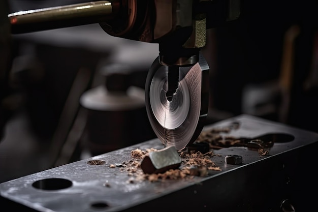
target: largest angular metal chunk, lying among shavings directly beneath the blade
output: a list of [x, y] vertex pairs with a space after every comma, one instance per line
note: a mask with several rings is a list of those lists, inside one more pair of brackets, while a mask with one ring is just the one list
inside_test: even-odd
[[141, 162], [141, 169], [145, 174], [163, 173], [169, 169], [177, 169], [182, 159], [174, 146], [150, 152]]

